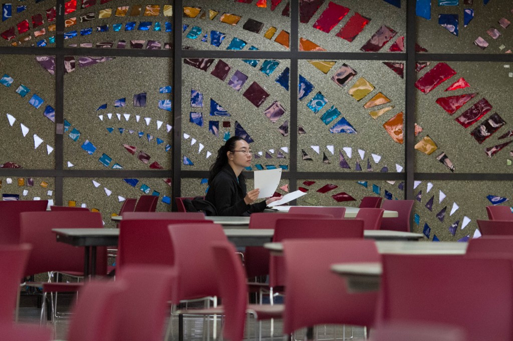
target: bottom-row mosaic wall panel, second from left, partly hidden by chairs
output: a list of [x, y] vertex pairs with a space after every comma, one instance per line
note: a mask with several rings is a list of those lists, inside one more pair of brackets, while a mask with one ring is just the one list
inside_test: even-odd
[[100, 211], [105, 227], [115, 227], [110, 218], [119, 214], [123, 201], [142, 195], [159, 197], [156, 210], [170, 211], [171, 179], [65, 178], [63, 206]]

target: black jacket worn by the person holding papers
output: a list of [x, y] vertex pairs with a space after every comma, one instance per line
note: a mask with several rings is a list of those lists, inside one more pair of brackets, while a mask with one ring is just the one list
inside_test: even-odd
[[239, 181], [230, 165], [226, 165], [214, 177], [208, 188], [205, 200], [211, 202], [218, 210], [219, 216], [249, 216], [261, 212], [267, 206], [265, 201], [246, 205], [246, 182], [239, 176]]

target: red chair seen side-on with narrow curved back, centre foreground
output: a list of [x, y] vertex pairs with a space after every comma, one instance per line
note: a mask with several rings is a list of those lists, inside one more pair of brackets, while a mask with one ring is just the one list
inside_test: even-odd
[[[230, 341], [242, 341], [246, 324], [246, 313], [257, 320], [279, 318], [283, 305], [248, 305], [248, 287], [245, 271], [231, 243], [218, 242], [211, 245], [217, 269], [217, 283], [223, 301], [223, 336]], [[255, 331], [257, 328], [255, 328]]]

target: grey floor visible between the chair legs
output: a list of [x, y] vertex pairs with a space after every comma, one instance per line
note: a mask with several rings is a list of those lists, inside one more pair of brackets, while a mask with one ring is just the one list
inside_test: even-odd
[[[58, 311], [60, 312], [68, 312], [70, 306], [72, 305], [73, 296], [60, 296], [58, 303]], [[30, 323], [30, 324], [39, 324], [40, 322], [40, 309], [36, 306], [37, 300], [32, 296], [22, 296], [20, 301], [20, 309], [19, 309], [19, 322]], [[54, 331], [54, 339], [57, 340], [65, 340], [66, 333], [68, 330], [68, 325], [70, 322], [70, 318], [57, 318], [53, 323], [47, 323], [49, 328], [52, 328]], [[168, 340], [177, 340], [178, 339], [178, 317], [171, 316], [168, 319], [168, 326], [171, 323], [171, 336]], [[218, 337], [220, 339], [220, 319], [217, 320], [217, 328], [218, 328]], [[246, 339], [245, 340], [257, 340], [258, 339], [258, 324], [254, 322], [254, 319], [248, 317], [246, 323]], [[274, 334], [273, 337], [270, 336], [270, 321], [263, 321], [262, 323], [262, 340], [263, 341], [271, 341], [271, 340], [283, 340], [282, 336], [282, 323], [280, 320], [275, 320], [273, 323]], [[203, 341], [203, 340], [213, 340], [212, 336], [208, 337], [209, 333], [207, 330], [213, 330], [213, 320], [205, 319], [201, 316], [185, 316], [184, 317], [184, 330], [185, 336], [184, 340], [186, 341]], [[344, 328], [343, 326], [320, 326], [315, 329], [317, 333], [318, 340], [335, 340], [335, 339], [343, 339], [343, 332], [345, 330], [346, 339], [351, 339], [351, 327], [347, 326]], [[255, 333], [256, 331], [256, 333]], [[210, 335], [212, 335], [210, 333]], [[360, 327], [353, 328], [353, 338], [354, 340], [363, 340], [364, 339], [364, 330]], [[163, 337], [164, 339], [164, 337]], [[298, 331], [295, 335], [296, 340], [304, 340], [304, 331]], [[137, 341], [137, 340], [134, 340]]]

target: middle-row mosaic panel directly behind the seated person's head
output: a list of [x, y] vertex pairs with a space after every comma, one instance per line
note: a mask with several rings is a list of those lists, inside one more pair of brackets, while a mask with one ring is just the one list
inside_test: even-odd
[[289, 60], [183, 60], [182, 170], [207, 171], [219, 147], [241, 136], [247, 170], [288, 169]]

